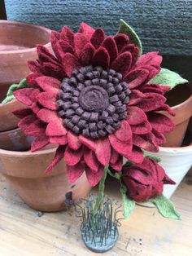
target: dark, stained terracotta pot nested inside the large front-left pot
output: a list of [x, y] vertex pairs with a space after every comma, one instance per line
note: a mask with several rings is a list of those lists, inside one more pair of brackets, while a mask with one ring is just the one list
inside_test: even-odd
[[16, 128], [0, 132], [0, 148], [12, 151], [26, 151], [31, 147], [33, 137], [24, 135], [23, 130]]

